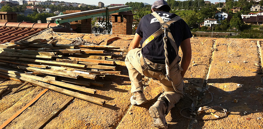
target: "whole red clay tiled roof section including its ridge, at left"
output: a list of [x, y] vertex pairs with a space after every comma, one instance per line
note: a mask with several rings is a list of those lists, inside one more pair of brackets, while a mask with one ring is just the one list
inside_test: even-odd
[[57, 24], [0, 22], [0, 44], [20, 41], [54, 26]]

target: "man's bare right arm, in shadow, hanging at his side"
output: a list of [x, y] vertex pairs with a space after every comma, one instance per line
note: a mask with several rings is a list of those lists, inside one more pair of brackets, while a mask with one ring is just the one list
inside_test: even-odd
[[190, 38], [182, 41], [180, 47], [181, 47], [181, 50], [183, 52], [181, 67], [184, 69], [183, 71], [181, 71], [181, 76], [184, 78], [184, 74], [186, 73], [186, 70], [187, 70], [187, 68], [191, 62], [191, 58], [192, 58], [192, 49], [191, 49]]

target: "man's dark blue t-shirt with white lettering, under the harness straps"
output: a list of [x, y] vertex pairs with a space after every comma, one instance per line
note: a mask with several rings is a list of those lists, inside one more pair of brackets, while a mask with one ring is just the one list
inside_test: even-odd
[[[158, 13], [164, 19], [165, 22], [177, 16], [174, 13], [167, 13], [163, 11], [156, 11], [156, 13]], [[159, 21], [152, 14], [143, 16], [136, 29], [136, 33], [142, 37], [140, 42], [141, 46], [143, 42], [154, 32], [159, 30], [160, 27], [161, 26]], [[182, 41], [192, 37], [191, 31], [183, 19], [172, 23], [170, 26], [170, 30], [177, 44], [178, 49]], [[165, 64], [165, 50], [164, 50], [163, 37], [164, 34], [155, 37], [153, 41], [149, 42], [141, 49], [141, 53], [143, 54], [144, 58], [147, 58], [153, 63]], [[169, 63], [172, 63], [178, 51], [174, 50], [169, 40], [167, 42], [167, 48], [168, 48]]]

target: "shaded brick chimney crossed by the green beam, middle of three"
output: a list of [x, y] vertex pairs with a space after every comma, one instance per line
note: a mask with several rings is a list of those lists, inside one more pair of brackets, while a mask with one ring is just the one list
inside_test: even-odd
[[[63, 12], [64, 14], [69, 13], [76, 13], [76, 12], [82, 12], [85, 10], [66, 10], [66, 12]], [[70, 22], [71, 25], [75, 25], [77, 27], [76, 32], [78, 33], [89, 33], [91, 34], [91, 18], [84, 19], [84, 20], [77, 20]]]

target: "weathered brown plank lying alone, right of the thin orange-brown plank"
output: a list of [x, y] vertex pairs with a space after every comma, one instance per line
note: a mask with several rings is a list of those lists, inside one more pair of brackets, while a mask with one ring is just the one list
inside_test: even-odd
[[34, 129], [41, 129], [45, 127], [49, 121], [51, 121], [55, 116], [57, 116], [63, 109], [65, 109], [66, 106], [68, 106], [75, 98], [69, 97], [63, 104], [58, 106], [57, 109], [52, 111], [43, 121], [41, 121]]

